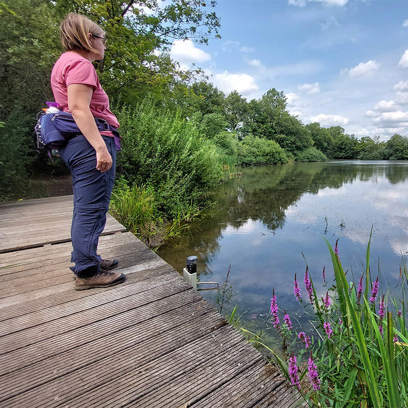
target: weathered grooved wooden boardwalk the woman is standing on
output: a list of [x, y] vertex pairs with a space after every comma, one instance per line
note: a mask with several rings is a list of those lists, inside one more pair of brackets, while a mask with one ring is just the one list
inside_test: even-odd
[[[293, 387], [169, 264], [108, 217], [124, 284], [73, 290], [72, 196], [0, 206], [0, 406], [264, 408]], [[16, 250], [19, 249], [19, 250]]]

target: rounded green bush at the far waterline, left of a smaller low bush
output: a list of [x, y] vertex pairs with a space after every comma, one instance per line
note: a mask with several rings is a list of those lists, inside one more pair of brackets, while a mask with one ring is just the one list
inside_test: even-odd
[[247, 136], [237, 144], [238, 164], [287, 163], [284, 149], [273, 140]]

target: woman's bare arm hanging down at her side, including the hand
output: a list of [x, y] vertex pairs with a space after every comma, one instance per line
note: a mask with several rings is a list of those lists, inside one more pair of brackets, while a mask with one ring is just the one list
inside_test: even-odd
[[89, 108], [92, 88], [84, 84], [70, 84], [67, 92], [68, 109], [80, 131], [96, 151], [96, 169], [101, 172], [108, 171], [112, 167], [112, 157]]

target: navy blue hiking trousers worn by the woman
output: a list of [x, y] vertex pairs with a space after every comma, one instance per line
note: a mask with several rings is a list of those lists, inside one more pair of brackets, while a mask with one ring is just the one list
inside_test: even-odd
[[105, 228], [115, 179], [115, 141], [113, 137], [102, 137], [112, 156], [112, 167], [104, 173], [96, 170], [95, 149], [83, 135], [73, 137], [59, 151], [72, 174], [71, 262], [75, 266], [70, 269], [81, 277], [99, 270], [98, 240]]

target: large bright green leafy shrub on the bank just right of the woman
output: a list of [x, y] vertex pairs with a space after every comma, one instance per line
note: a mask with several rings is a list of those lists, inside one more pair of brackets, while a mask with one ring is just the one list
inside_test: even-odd
[[134, 111], [123, 107], [118, 171], [131, 184], [154, 188], [161, 209], [174, 215], [222, 179], [216, 146], [199, 136], [194, 123], [160, 111], [146, 99]]

